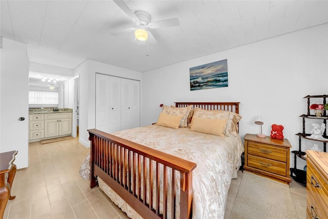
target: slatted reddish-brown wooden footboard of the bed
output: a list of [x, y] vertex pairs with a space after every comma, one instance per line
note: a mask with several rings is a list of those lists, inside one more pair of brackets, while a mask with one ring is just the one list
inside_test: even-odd
[[[175, 218], [176, 202], [180, 203], [180, 218], [191, 218], [195, 163], [96, 129], [88, 131], [91, 188], [96, 186], [96, 177], [99, 176], [144, 218]], [[159, 170], [161, 165], [163, 171]], [[180, 173], [180, 200], [175, 198], [176, 172]], [[163, 191], [159, 191], [160, 183]], [[171, 197], [168, 198], [169, 190]], [[170, 212], [167, 211], [169, 205]]]

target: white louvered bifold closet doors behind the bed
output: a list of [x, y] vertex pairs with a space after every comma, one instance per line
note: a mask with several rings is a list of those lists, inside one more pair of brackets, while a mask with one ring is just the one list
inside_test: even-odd
[[139, 126], [139, 81], [96, 74], [96, 129], [112, 133]]

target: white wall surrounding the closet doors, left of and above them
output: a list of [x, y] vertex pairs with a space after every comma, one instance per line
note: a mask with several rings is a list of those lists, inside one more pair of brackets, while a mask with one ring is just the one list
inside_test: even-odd
[[74, 70], [80, 78], [79, 142], [90, 147], [88, 129], [95, 128], [95, 77], [97, 73], [141, 81], [141, 73], [87, 60]]

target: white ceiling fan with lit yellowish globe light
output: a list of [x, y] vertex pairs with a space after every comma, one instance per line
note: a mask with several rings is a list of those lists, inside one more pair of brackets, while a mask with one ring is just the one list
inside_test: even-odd
[[134, 31], [135, 38], [139, 41], [147, 41], [148, 31], [147, 29], [155, 29], [162, 27], [173, 27], [179, 26], [180, 22], [178, 18], [165, 19], [161, 21], [151, 21], [151, 16], [145, 11], [134, 11], [132, 10], [125, 1], [123, 0], [113, 0], [118, 7], [122, 9], [136, 24], [136, 27], [126, 28], [122, 30], [112, 31], [111, 34], [116, 36], [122, 33], [128, 33]]

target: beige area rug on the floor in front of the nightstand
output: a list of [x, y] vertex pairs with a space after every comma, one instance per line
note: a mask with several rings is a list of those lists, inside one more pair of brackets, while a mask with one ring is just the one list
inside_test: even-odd
[[297, 218], [289, 186], [244, 171], [230, 218]]

